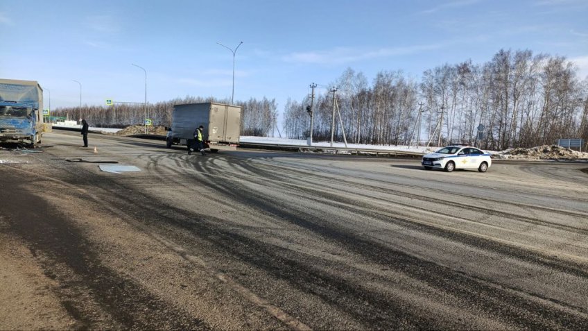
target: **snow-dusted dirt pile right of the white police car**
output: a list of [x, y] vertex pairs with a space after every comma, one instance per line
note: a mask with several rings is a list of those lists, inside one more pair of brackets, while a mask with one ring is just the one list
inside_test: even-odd
[[513, 160], [576, 160], [588, 159], [588, 153], [573, 151], [557, 145], [543, 145], [532, 148], [509, 148], [498, 153], [501, 159]]

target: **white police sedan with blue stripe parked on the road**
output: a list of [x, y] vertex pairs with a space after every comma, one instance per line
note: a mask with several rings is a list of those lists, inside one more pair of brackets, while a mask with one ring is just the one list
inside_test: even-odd
[[426, 170], [436, 168], [451, 172], [455, 169], [478, 169], [480, 172], [486, 172], [492, 160], [489, 153], [484, 153], [478, 148], [454, 145], [424, 155], [421, 164]]

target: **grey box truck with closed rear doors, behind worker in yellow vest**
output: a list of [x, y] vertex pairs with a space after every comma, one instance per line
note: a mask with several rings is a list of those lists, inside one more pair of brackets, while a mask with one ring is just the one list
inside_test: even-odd
[[242, 110], [238, 105], [211, 102], [174, 105], [166, 144], [168, 147], [173, 144], [188, 146], [198, 126], [204, 126], [205, 147], [211, 152], [235, 150], [241, 135]]

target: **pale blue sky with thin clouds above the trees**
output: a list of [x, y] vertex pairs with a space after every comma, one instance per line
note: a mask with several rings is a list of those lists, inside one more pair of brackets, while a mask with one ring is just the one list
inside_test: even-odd
[[176, 97], [275, 98], [347, 67], [422, 71], [499, 49], [566, 56], [588, 75], [587, 0], [0, 1], [0, 78], [37, 80], [45, 108]]

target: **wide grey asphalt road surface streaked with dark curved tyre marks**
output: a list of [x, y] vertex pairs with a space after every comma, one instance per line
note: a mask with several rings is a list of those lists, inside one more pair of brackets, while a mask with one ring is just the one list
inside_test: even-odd
[[0, 151], [0, 329], [588, 329], [587, 163], [43, 142]]

